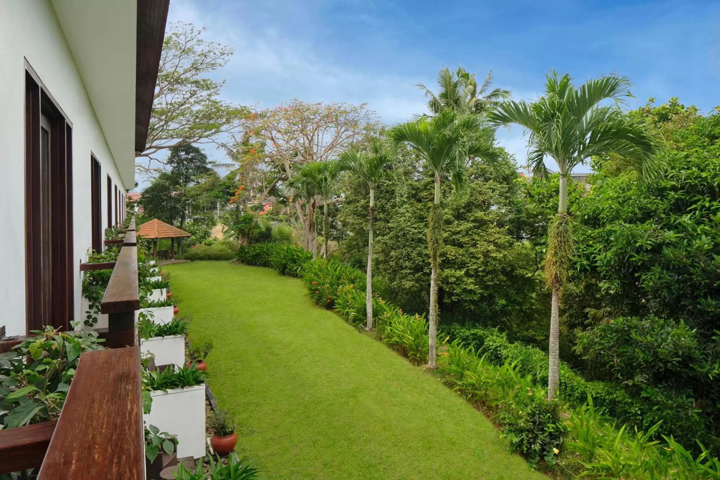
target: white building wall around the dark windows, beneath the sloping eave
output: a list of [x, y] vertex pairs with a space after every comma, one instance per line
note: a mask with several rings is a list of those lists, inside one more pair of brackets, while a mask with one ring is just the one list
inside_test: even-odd
[[[76, 265], [84, 261], [86, 250], [91, 246], [91, 153], [102, 166], [104, 226], [107, 226], [107, 175], [119, 189], [123, 192], [125, 189], [50, 1], [0, 0], [0, 305], [3, 307], [0, 325], [6, 326], [7, 335], [25, 333], [26, 59], [73, 126]], [[132, 188], [132, 185], [128, 187]], [[75, 272], [74, 291], [75, 317], [81, 319], [79, 268]]]

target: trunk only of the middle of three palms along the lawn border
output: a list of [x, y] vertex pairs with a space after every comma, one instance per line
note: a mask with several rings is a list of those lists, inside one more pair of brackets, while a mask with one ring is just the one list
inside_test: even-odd
[[428, 331], [428, 368], [437, 367], [438, 341], [438, 257], [442, 241], [442, 210], [440, 209], [440, 176], [435, 176], [435, 199], [428, 221], [428, 249], [430, 250], [430, 327]]

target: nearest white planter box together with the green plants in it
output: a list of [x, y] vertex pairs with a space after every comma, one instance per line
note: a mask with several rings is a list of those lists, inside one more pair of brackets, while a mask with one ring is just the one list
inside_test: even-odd
[[143, 389], [149, 391], [148, 425], [177, 435], [178, 458], [205, 455], [205, 373], [195, 368], [143, 371]]

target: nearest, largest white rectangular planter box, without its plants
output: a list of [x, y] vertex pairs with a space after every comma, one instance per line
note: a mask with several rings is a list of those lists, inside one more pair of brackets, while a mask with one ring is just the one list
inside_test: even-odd
[[205, 455], [205, 385], [150, 392], [153, 406], [143, 420], [178, 437], [178, 458]]

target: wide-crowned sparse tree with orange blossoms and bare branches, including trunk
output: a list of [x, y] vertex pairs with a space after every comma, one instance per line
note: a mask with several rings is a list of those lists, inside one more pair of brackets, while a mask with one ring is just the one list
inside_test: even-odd
[[[348, 145], [377, 130], [373, 112], [365, 104], [307, 104], [291, 100], [273, 109], [251, 112], [243, 120], [246, 136], [233, 145], [233, 158], [243, 168], [253, 165], [271, 178], [258, 196], [284, 181], [290, 181], [307, 163], [336, 158]], [[295, 212], [300, 223], [298, 236], [305, 248], [312, 248], [313, 214], [318, 202], [307, 204], [295, 196]]]

